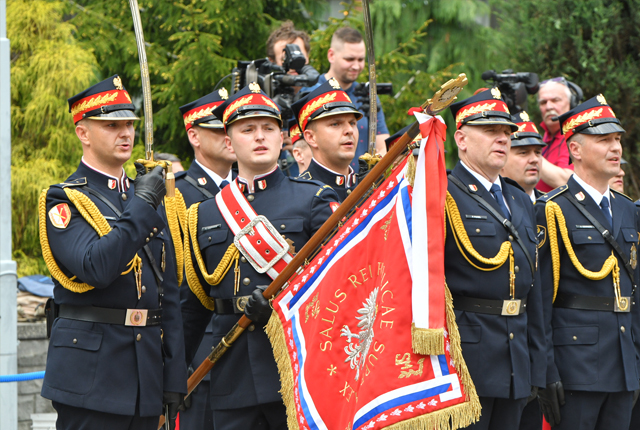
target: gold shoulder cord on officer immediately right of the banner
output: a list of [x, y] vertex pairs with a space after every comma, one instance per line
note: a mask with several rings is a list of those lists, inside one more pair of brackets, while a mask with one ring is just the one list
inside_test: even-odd
[[[462, 256], [478, 270], [482, 270], [483, 272], [490, 272], [502, 267], [502, 265], [507, 261], [507, 257], [509, 258], [509, 292], [511, 294], [511, 299], [515, 298], [515, 279], [516, 275], [514, 272], [514, 256], [513, 256], [513, 247], [511, 246], [511, 242], [504, 241], [500, 245], [500, 250], [493, 258], [483, 257], [475, 250], [471, 240], [469, 240], [469, 236], [467, 235], [467, 231], [464, 228], [464, 223], [462, 222], [462, 218], [460, 217], [460, 211], [458, 210], [458, 205], [456, 201], [453, 199], [451, 194], [447, 191], [447, 200], [445, 204], [445, 209], [447, 213], [447, 218], [449, 219], [449, 223], [451, 224], [451, 230], [453, 231], [453, 238], [456, 241], [456, 245], [460, 250]], [[445, 229], [446, 231], [446, 229]], [[464, 248], [464, 249], [463, 249]], [[488, 266], [493, 267], [480, 267], [475, 264], [473, 261], [469, 259], [467, 254], [470, 254], [473, 258], [478, 260], [482, 264], [486, 264]]]

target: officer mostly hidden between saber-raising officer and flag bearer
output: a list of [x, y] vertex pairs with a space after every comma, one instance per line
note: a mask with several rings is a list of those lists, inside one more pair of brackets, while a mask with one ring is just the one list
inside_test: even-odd
[[[236, 156], [225, 145], [224, 126], [213, 115], [213, 109], [229, 98], [227, 90], [221, 88], [198, 100], [180, 107], [189, 142], [193, 147], [195, 159], [187, 171], [176, 174], [176, 188], [180, 190], [186, 207], [203, 200], [213, 198], [220, 188], [232, 180], [231, 166]], [[180, 290], [185, 298], [188, 286]], [[190, 370], [197, 368], [211, 352], [213, 335], [208, 325], [198, 348]], [[183, 429], [213, 429], [211, 401], [209, 399], [209, 375], [191, 393], [187, 401], [188, 408], [180, 412], [180, 426]]]

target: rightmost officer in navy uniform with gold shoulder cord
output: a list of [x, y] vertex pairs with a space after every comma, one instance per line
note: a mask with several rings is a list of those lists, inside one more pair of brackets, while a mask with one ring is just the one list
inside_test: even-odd
[[638, 218], [608, 185], [624, 129], [602, 94], [559, 120], [575, 173], [535, 205], [543, 299], [553, 303], [541, 406], [554, 428], [627, 428], [639, 388]]

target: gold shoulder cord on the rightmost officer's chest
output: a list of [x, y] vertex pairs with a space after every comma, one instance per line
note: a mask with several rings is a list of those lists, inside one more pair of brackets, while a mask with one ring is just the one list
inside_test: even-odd
[[560, 227], [560, 234], [562, 235], [562, 240], [564, 242], [564, 246], [567, 249], [567, 254], [569, 254], [569, 258], [573, 263], [574, 267], [578, 270], [578, 272], [587, 279], [592, 281], [599, 281], [604, 279], [612, 274], [613, 277], [613, 289], [616, 296], [616, 301], [618, 302], [618, 307], [620, 309], [626, 309], [626, 306], [621, 306], [620, 301], [620, 268], [618, 267], [618, 259], [611, 251], [611, 255], [605, 260], [602, 268], [598, 272], [592, 272], [584, 268], [584, 266], [578, 261], [578, 257], [576, 256], [575, 251], [573, 250], [573, 246], [571, 245], [571, 241], [569, 240], [569, 232], [567, 230], [567, 225], [565, 223], [564, 214], [562, 213], [562, 209], [560, 206], [552, 201], [547, 202], [547, 206], [545, 207], [545, 215], [547, 218], [547, 231], [549, 235], [549, 250], [551, 253], [551, 263], [553, 268], [553, 300], [556, 300], [556, 294], [558, 294], [558, 284], [560, 282], [560, 251], [558, 249], [558, 231], [556, 229], [556, 220], [558, 221], [558, 226]]

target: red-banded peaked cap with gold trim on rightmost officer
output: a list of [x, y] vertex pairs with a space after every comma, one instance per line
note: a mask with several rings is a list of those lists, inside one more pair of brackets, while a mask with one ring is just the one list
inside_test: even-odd
[[560, 130], [569, 139], [575, 133], [610, 134], [624, 133], [620, 120], [602, 94], [563, 113], [558, 117]]

